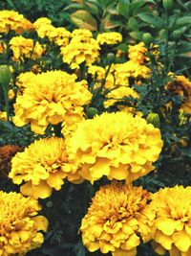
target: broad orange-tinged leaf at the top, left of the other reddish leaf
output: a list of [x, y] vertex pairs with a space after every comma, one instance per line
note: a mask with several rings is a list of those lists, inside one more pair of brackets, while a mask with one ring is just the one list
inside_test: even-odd
[[90, 31], [97, 30], [96, 19], [87, 11], [79, 10], [70, 15], [70, 18], [74, 24], [80, 29], [86, 29]]

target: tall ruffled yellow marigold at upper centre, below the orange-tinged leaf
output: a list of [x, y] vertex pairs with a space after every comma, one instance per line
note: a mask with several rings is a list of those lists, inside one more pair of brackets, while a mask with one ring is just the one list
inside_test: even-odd
[[[84, 36], [83, 36], [84, 35]], [[99, 45], [87, 30], [74, 30], [72, 39], [66, 47], [61, 47], [63, 62], [70, 65], [72, 69], [79, 68], [79, 64], [85, 62], [87, 66], [92, 65], [99, 57]]]

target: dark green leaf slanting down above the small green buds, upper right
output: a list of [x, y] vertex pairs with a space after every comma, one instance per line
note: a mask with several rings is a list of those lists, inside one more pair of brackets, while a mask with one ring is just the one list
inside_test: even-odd
[[148, 23], [149, 25], [151, 25], [151, 27], [153, 28], [161, 29], [162, 27], [162, 20], [157, 15], [154, 15], [149, 12], [142, 12], [138, 14], [138, 17], [145, 23]]

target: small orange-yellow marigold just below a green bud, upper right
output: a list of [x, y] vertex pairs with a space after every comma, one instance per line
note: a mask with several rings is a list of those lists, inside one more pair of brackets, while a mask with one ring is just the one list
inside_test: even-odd
[[145, 47], [143, 42], [140, 42], [136, 45], [129, 46], [128, 56], [130, 60], [134, 62], [138, 62], [139, 64], [142, 64], [144, 60], [148, 60], [148, 58], [145, 56], [146, 52], [147, 52], [147, 48]]

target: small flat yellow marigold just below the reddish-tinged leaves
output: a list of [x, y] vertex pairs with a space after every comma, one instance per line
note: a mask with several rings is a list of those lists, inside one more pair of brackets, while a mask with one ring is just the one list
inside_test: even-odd
[[106, 32], [98, 34], [96, 36], [96, 41], [99, 44], [117, 44], [122, 41], [122, 35], [117, 32]]

